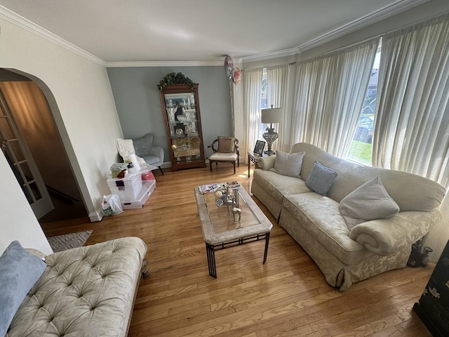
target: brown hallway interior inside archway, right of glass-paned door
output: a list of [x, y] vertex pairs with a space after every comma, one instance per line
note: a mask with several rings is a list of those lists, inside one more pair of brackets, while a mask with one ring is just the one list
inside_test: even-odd
[[65, 128], [53, 93], [39, 79], [16, 70], [0, 70], [0, 86], [55, 206], [43, 216], [35, 212], [39, 222], [86, 217], [81, 191], [61, 138]]

